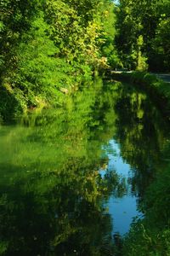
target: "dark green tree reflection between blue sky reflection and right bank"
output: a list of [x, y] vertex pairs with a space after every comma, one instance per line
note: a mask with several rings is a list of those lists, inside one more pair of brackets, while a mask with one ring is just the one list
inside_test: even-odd
[[126, 87], [116, 101], [115, 137], [122, 158], [133, 170], [129, 180], [133, 192], [142, 199], [155, 173], [165, 166], [162, 150], [169, 137], [169, 125], [142, 90], [133, 90], [128, 84]]

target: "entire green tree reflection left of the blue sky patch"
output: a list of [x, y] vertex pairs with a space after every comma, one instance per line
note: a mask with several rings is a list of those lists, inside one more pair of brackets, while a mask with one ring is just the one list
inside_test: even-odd
[[99, 174], [102, 145], [115, 132], [113, 96], [99, 80], [65, 97], [62, 108], [0, 128], [4, 255], [114, 253], [102, 198], [122, 185], [115, 172]]

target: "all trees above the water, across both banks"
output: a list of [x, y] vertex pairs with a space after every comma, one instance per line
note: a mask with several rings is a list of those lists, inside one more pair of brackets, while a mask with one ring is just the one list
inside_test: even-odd
[[60, 91], [77, 90], [108, 67], [169, 71], [168, 0], [1, 0], [0, 9], [5, 121], [60, 104]]

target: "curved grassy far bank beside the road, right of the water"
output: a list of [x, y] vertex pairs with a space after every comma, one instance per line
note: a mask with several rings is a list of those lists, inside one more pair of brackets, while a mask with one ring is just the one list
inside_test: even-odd
[[116, 72], [111, 71], [107, 78], [120, 80], [144, 89], [151, 100], [161, 109], [165, 118], [170, 119], [170, 84], [156, 74], [144, 72]]

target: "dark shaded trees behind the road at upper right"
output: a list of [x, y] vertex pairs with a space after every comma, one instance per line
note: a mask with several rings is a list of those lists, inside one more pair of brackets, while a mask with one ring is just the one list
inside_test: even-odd
[[170, 71], [169, 0], [120, 0], [116, 47], [129, 69]]

